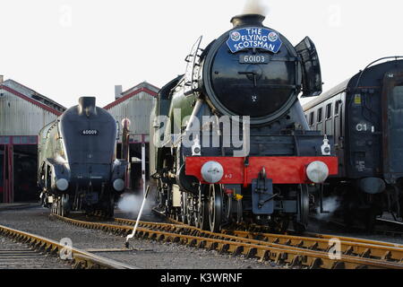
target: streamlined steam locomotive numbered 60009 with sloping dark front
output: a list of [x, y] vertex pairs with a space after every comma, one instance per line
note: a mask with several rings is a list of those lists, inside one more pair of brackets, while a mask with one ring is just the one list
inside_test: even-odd
[[82, 97], [39, 132], [38, 183], [53, 213], [112, 217], [124, 191], [126, 161], [116, 160], [116, 121], [96, 99]]

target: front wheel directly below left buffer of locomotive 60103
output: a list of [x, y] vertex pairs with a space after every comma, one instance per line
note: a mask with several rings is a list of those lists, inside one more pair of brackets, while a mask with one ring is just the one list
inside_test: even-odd
[[222, 192], [218, 185], [210, 185], [209, 188], [209, 223], [210, 231], [218, 232], [222, 222]]

